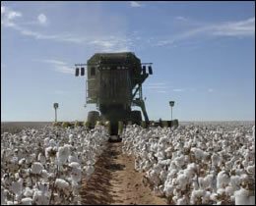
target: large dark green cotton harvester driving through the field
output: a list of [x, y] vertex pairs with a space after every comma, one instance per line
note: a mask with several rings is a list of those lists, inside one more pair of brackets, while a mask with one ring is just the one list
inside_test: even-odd
[[[87, 126], [108, 127], [111, 136], [119, 136], [123, 127], [137, 124], [146, 128], [177, 126], [178, 121], [149, 120], [142, 84], [153, 75], [152, 63], [141, 63], [132, 52], [96, 53], [87, 64], [76, 64], [76, 77], [85, 76], [87, 67], [87, 104], [96, 104], [97, 111], [88, 113]], [[148, 69], [148, 70], [147, 70]], [[132, 110], [138, 106], [141, 111]], [[144, 121], [142, 119], [142, 114]]]

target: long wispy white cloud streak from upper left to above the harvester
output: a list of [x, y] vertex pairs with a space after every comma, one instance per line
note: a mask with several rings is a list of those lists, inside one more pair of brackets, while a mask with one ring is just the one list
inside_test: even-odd
[[57, 33], [48, 34], [39, 31], [32, 30], [32, 28], [25, 27], [24, 25], [45, 25], [47, 23], [47, 18], [44, 14], [40, 14], [37, 17], [37, 22], [25, 23], [25, 22], [15, 22], [17, 17], [21, 17], [22, 14], [17, 11], [13, 11], [10, 8], [1, 6], [1, 16], [2, 16], [2, 26], [12, 27], [13, 29], [19, 31], [22, 35], [31, 36], [34, 39], [42, 40], [52, 40], [58, 42], [70, 42], [77, 44], [84, 44], [98, 52], [124, 52], [131, 50], [134, 45], [133, 40], [128, 38], [126, 35], [116, 34], [116, 35], [91, 35], [87, 36], [84, 34], [76, 35], [72, 33]]

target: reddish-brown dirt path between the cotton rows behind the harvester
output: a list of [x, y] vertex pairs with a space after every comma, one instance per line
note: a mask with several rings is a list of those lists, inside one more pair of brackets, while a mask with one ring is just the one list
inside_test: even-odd
[[83, 181], [82, 204], [155, 204], [165, 205], [142, 183], [143, 175], [134, 170], [132, 157], [122, 154], [122, 143], [108, 143], [96, 163], [92, 178]]

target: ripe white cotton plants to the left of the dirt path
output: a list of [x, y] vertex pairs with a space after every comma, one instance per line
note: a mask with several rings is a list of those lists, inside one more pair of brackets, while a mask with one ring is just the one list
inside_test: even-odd
[[80, 204], [105, 148], [104, 128], [24, 129], [1, 135], [1, 204]]

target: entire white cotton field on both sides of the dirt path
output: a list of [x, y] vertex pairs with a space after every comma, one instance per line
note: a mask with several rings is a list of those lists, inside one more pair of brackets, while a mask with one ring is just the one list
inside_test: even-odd
[[[101, 126], [1, 134], [1, 204], [82, 204], [82, 180], [92, 180], [97, 160], [113, 144], [108, 153], [116, 154], [117, 162], [119, 156], [132, 157], [132, 176], [143, 174], [138, 182], [166, 204], [255, 203], [254, 124], [187, 124], [176, 129], [134, 125], [127, 126], [121, 137], [120, 145], [109, 143]], [[113, 148], [120, 148], [121, 154]], [[120, 173], [130, 170], [128, 160], [121, 163], [111, 164], [117, 170], [122, 166]], [[111, 167], [109, 171], [114, 173]], [[110, 182], [111, 177], [104, 175], [96, 180]], [[98, 192], [97, 186], [90, 188]], [[108, 193], [110, 188], [104, 189]]]

